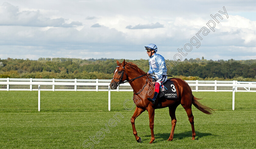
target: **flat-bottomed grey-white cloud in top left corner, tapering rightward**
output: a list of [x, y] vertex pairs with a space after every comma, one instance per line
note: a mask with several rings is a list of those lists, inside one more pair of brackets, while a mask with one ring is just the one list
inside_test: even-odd
[[7, 2], [0, 5], [0, 25], [33, 26], [33, 27], [74, 27], [81, 26], [81, 22], [66, 23], [66, 19], [51, 19], [44, 17], [39, 10], [20, 11], [18, 7]]

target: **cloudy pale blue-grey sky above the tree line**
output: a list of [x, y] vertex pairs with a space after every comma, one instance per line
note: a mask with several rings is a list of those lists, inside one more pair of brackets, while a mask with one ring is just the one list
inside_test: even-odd
[[169, 60], [256, 59], [255, 8], [254, 0], [0, 0], [0, 58], [148, 59], [153, 43]]

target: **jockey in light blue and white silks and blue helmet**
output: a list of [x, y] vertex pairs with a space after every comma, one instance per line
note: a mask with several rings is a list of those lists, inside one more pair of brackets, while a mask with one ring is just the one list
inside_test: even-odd
[[156, 54], [157, 52], [157, 46], [155, 44], [148, 44], [145, 46], [147, 50], [147, 54], [149, 56], [148, 62], [149, 62], [149, 73], [155, 73], [155, 82], [152, 82], [155, 84], [155, 93], [154, 97], [148, 98], [149, 101], [151, 101], [153, 104], [155, 104], [156, 97], [159, 93], [159, 88], [162, 83], [164, 83], [167, 80], [167, 68], [165, 64], [165, 58], [161, 56], [160, 54]]

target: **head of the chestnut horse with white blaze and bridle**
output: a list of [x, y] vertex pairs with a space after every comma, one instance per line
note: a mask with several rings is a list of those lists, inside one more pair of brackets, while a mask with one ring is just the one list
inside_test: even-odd
[[116, 70], [114, 72], [114, 76], [111, 79], [111, 83], [109, 85], [112, 90], [116, 89], [117, 86], [124, 83], [123, 81], [128, 79], [128, 76], [125, 72], [125, 65], [126, 65], [125, 59], [123, 60], [123, 63], [119, 63], [118, 60], [116, 60], [116, 63], [117, 63]]

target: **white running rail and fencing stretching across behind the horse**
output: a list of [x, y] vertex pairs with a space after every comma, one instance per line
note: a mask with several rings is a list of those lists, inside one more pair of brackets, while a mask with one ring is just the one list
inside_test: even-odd
[[[233, 92], [232, 109], [235, 109], [235, 92], [256, 92], [256, 82], [239, 81], [186, 81], [192, 91]], [[50, 91], [108, 91], [110, 111], [110, 91], [133, 91], [129, 83], [120, 84], [110, 90], [111, 80], [88, 79], [16, 79], [0, 78], [0, 90], [38, 90], [38, 111], [40, 111], [40, 90]]]

